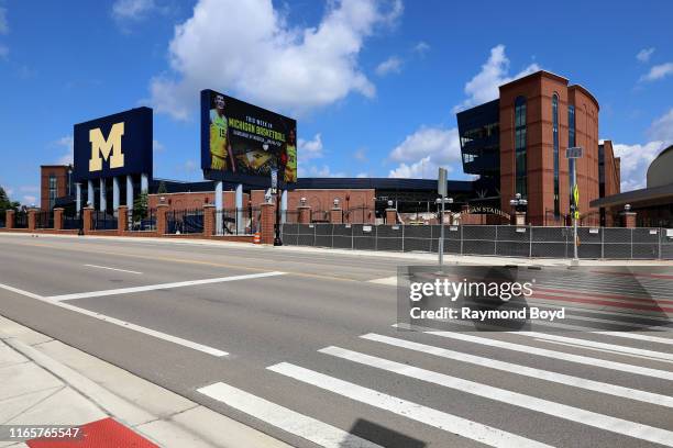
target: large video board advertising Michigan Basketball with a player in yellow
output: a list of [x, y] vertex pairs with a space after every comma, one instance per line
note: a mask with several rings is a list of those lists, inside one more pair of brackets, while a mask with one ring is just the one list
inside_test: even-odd
[[201, 91], [201, 168], [213, 180], [269, 187], [297, 181], [297, 122], [213, 90]]

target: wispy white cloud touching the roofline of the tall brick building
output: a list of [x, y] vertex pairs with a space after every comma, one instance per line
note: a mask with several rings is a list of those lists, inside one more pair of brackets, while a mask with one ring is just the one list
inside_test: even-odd
[[453, 112], [472, 108], [487, 101], [495, 100], [499, 96], [498, 87], [540, 70], [538, 64], [531, 64], [515, 76], [509, 76], [509, 59], [505, 54], [505, 45], [490, 48], [488, 60], [482, 66], [482, 70], [465, 83], [467, 99], [453, 108]]

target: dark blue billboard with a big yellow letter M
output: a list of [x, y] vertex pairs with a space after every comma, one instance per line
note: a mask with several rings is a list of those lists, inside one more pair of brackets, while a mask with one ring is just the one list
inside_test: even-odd
[[137, 108], [74, 126], [76, 182], [146, 173], [152, 178], [152, 109]]

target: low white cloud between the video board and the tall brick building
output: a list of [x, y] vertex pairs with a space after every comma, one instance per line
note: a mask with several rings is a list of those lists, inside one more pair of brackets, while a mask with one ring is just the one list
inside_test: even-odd
[[457, 130], [421, 126], [395, 147], [389, 158], [400, 164], [388, 177], [431, 179], [439, 167], [453, 171], [452, 165], [461, 160]]

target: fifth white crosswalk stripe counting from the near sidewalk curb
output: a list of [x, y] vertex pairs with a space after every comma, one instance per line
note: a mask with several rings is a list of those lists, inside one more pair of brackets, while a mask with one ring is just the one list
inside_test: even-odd
[[[400, 328], [406, 327], [406, 325], [397, 325], [397, 326]], [[408, 328], [412, 329], [411, 326], [409, 326]], [[537, 356], [542, 356], [545, 358], [561, 359], [564, 361], [576, 362], [576, 363], [582, 363], [586, 366], [600, 367], [600, 368], [610, 369], [610, 370], [619, 370], [622, 372], [642, 374], [644, 377], [660, 378], [662, 380], [673, 381], [673, 372], [669, 372], [665, 370], [650, 369], [648, 367], [632, 366], [629, 363], [608, 361], [608, 360], [598, 359], [598, 358], [589, 358], [587, 356], [566, 354], [564, 351], [549, 350], [547, 348], [532, 347], [532, 346], [527, 346], [522, 344], [507, 343], [504, 340], [472, 336], [465, 333], [438, 332], [433, 329], [427, 329], [427, 331], [423, 331], [423, 333], [429, 334], [429, 335], [440, 336], [440, 337], [446, 337], [451, 339], [459, 339], [459, 340], [465, 340], [468, 343], [481, 344], [481, 345], [485, 345], [489, 347], [504, 348], [506, 350], [521, 351], [528, 355], [537, 355]]]

